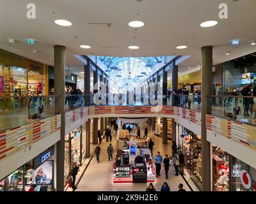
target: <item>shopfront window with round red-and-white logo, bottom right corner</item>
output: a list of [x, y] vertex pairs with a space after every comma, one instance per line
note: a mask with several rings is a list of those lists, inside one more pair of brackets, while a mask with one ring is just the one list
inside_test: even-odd
[[256, 191], [256, 170], [243, 161], [232, 157], [232, 191]]

